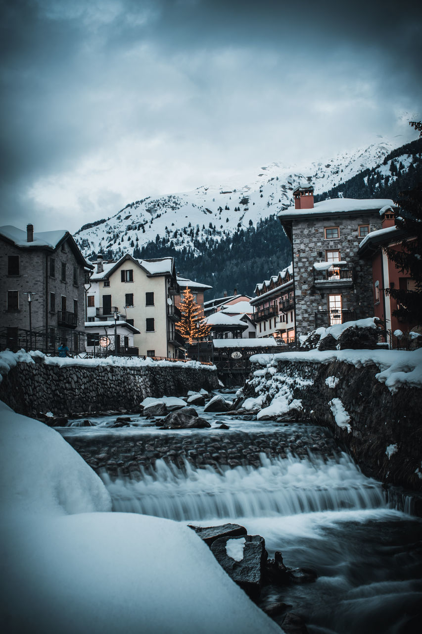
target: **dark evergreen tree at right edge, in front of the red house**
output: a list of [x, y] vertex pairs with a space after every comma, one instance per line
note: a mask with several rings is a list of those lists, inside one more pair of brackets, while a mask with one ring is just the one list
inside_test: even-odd
[[395, 224], [406, 229], [409, 238], [402, 242], [403, 249], [385, 249], [400, 273], [409, 273], [414, 280], [414, 290], [386, 288], [385, 293], [399, 305], [393, 315], [404, 321], [422, 324], [422, 184], [413, 190], [403, 191], [397, 200]]

